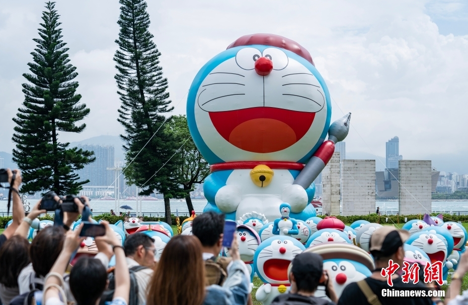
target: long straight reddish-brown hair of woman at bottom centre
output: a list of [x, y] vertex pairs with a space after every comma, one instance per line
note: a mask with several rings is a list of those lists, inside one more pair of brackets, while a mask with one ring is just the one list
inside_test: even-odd
[[201, 305], [205, 298], [205, 264], [201, 253], [196, 237], [174, 236], [153, 273], [146, 304]]

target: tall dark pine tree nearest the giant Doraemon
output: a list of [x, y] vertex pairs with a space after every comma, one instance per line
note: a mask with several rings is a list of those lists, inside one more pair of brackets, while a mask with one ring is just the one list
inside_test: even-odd
[[125, 143], [126, 162], [133, 160], [131, 170], [124, 174], [143, 187], [140, 194], [148, 195], [154, 189], [164, 194], [166, 222], [171, 224], [169, 199], [184, 197], [185, 193], [177, 176], [181, 159], [174, 155], [180, 139], [170, 129], [162, 128], [166, 120], [163, 114], [173, 110], [168, 80], [159, 65], [161, 53], [148, 31], [146, 2], [120, 0], [120, 4], [120, 33], [115, 41], [119, 49], [114, 55], [117, 93], [122, 102], [118, 121], [125, 128], [120, 137]]

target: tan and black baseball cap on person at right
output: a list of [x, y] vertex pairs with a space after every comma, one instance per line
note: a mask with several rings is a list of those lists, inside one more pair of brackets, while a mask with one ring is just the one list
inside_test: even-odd
[[394, 226], [383, 226], [370, 238], [370, 254], [374, 258], [391, 256], [408, 240], [410, 233], [398, 230]]

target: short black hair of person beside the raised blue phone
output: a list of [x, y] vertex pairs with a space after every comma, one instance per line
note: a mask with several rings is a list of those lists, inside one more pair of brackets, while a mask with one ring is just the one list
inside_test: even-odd
[[224, 214], [206, 212], [193, 219], [192, 234], [198, 237], [205, 247], [214, 246], [223, 231]]

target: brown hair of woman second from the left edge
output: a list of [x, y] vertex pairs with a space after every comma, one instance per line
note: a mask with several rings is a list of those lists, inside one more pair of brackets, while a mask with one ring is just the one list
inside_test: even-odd
[[62, 251], [65, 231], [62, 227], [46, 227], [31, 242], [29, 256], [37, 275], [46, 276]]

